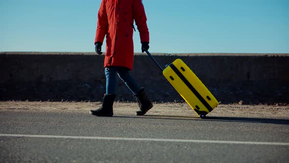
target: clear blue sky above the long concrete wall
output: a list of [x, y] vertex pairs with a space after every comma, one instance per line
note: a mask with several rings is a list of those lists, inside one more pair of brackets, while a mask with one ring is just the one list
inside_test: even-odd
[[[94, 52], [100, 1], [1, 0], [0, 52]], [[289, 0], [143, 1], [151, 52], [289, 53]]]

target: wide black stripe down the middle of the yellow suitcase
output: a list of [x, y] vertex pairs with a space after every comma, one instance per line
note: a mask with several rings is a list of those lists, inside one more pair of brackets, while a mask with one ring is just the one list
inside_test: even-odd
[[191, 89], [193, 94], [200, 100], [200, 102], [209, 110], [212, 111], [213, 108], [206, 102], [206, 100], [199, 94], [199, 92], [193, 87], [193, 85], [184, 77], [184, 75], [176, 68], [172, 63], [169, 67], [177, 74], [177, 76]]

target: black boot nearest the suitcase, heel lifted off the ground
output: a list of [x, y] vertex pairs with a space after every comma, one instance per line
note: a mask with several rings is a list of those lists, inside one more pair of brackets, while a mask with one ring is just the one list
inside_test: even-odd
[[145, 89], [141, 88], [138, 94], [134, 95], [135, 99], [138, 101], [139, 108], [136, 111], [136, 115], [145, 115], [145, 113], [152, 108], [151, 102], [145, 95]]

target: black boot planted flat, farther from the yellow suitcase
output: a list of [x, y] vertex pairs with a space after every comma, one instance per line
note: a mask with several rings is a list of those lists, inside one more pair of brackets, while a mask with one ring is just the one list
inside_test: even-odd
[[90, 113], [96, 116], [113, 116], [113, 102], [116, 95], [104, 94], [102, 106], [96, 110], [90, 110]]

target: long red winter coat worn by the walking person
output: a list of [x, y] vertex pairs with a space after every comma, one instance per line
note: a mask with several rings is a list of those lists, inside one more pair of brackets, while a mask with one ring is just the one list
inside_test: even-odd
[[145, 8], [142, 0], [102, 0], [98, 11], [96, 42], [106, 35], [104, 67], [133, 67], [133, 24], [140, 31], [141, 42], [149, 42]]

